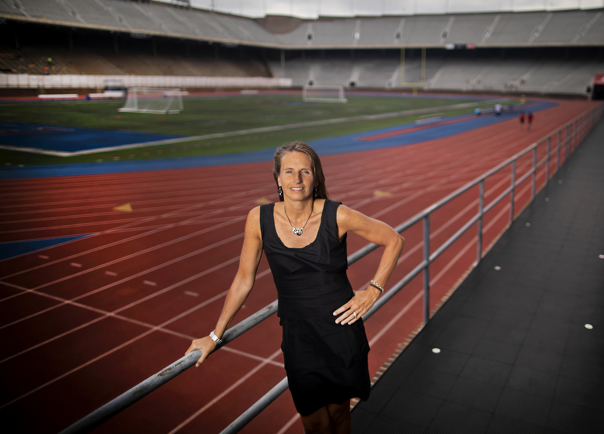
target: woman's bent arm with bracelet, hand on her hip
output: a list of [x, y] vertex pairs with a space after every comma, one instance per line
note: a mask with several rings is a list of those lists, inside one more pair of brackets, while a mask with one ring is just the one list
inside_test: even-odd
[[[400, 252], [403, 251], [405, 239], [384, 222], [367, 217], [344, 205], [338, 207], [337, 221], [340, 239], [345, 233], [354, 232], [356, 235], [367, 239], [367, 241], [385, 247], [379, 267], [373, 277], [375, 282], [384, 287], [390, 278], [390, 274], [394, 271], [394, 267], [396, 267]], [[369, 285], [367, 291], [355, 291], [355, 296], [333, 313], [334, 315], [341, 314], [336, 319], [336, 323], [352, 324], [371, 309], [381, 293], [382, 291], [371, 285]], [[356, 318], [353, 312], [356, 313]]]

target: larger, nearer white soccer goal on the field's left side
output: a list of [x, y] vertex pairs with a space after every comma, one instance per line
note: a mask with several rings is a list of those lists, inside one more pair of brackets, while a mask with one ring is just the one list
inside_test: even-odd
[[180, 113], [182, 110], [181, 89], [129, 88], [126, 104], [118, 111], [137, 113]]

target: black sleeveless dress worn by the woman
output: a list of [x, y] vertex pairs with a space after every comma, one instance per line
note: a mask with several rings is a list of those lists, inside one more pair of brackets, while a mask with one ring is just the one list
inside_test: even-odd
[[338, 239], [339, 202], [326, 199], [315, 241], [301, 248], [286, 247], [278, 237], [274, 206], [260, 206], [260, 228], [277, 287], [281, 350], [296, 410], [307, 416], [326, 404], [367, 400], [369, 343], [363, 322], [341, 325], [333, 316], [354, 294], [346, 276], [346, 238]]

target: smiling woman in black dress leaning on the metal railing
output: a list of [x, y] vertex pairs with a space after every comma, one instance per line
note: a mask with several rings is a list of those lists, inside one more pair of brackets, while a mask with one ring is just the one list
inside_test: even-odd
[[[361, 316], [384, 291], [404, 239], [384, 222], [330, 201], [321, 161], [306, 143], [277, 149], [273, 175], [280, 202], [249, 212], [239, 271], [216, 329], [185, 354], [201, 350], [199, 366], [216, 348], [252, 290], [264, 250], [277, 287], [289, 389], [304, 432], [350, 433], [350, 398], [367, 400], [370, 390]], [[385, 247], [365, 291], [353, 291], [346, 277], [349, 231]]]

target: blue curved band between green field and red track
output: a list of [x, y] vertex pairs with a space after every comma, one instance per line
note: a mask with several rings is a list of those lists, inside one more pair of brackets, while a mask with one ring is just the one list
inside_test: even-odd
[[[557, 106], [557, 103], [536, 102], [524, 106], [522, 109], [524, 111], [530, 110], [533, 112], [538, 112], [554, 106]], [[341, 135], [338, 137], [322, 138], [320, 140], [309, 141], [309, 144], [319, 155], [341, 154], [344, 152], [366, 151], [369, 149], [379, 149], [383, 147], [402, 146], [406, 144], [421, 143], [422, 141], [434, 140], [437, 138], [449, 137], [451, 135], [460, 134], [461, 132], [470, 131], [475, 128], [493, 125], [502, 120], [515, 118], [518, 116], [518, 114], [519, 111], [504, 112], [503, 116], [500, 118], [496, 118], [492, 114], [477, 117], [460, 115], [457, 117], [448, 117], [443, 119], [443, 121], [452, 120], [452, 123], [443, 122], [443, 125], [434, 125], [431, 128], [417, 130], [416, 125], [411, 123], [376, 129], [373, 131]], [[456, 119], [459, 121], [455, 121]], [[398, 134], [393, 137], [381, 138], [377, 140], [361, 140], [364, 137], [404, 129], [410, 129], [410, 132], [407, 134]], [[0, 178], [8, 179], [90, 175], [95, 173], [135, 172], [142, 170], [217, 166], [221, 164], [254, 163], [257, 161], [271, 161], [274, 153], [275, 148], [269, 148], [260, 149], [259, 151], [243, 152], [240, 154], [205, 155], [201, 157], [158, 158], [155, 160], [138, 161], [106, 161], [102, 163], [49, 164], [27, 167], [2, 167], [2, 169], [0, 169]]]

